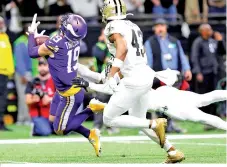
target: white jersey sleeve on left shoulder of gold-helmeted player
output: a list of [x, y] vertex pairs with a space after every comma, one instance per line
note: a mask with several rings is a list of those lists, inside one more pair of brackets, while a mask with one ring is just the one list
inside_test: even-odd
[[124, 25], [122, 24], [122, 22], [119, 20], [115, 20], [107, 24], [104, 33], [106, 37], [109, 37], [112, 34], [121, 34], [122, 36], [124, 36], [123, 30], [124, 30]]

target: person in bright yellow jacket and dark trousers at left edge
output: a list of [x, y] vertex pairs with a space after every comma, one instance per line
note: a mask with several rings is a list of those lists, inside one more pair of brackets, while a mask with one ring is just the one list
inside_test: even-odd
[[7, 81], [14, 73], [12, 47], [6, 32], [5, 21], [0, 17], [0, 131], [7, 131], [3, 122], [7, 103]]

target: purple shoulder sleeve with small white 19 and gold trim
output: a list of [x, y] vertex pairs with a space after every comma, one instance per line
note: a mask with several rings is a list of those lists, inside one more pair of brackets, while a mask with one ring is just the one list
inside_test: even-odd
[[62, 37], [59, 35], [55, 35], [52, 38], [46, 40], [45, 45], [46, 47], [53, 53], [58, 52], [59, 50], [59, 42], [61, 41]]

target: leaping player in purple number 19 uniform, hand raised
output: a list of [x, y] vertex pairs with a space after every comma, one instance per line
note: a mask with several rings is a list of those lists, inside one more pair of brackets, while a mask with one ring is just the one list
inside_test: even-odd
[[[34, 15], [32, 24], [28, 27], [28, 52], [31, 58], [47, 57], [50, 73], [57, 89], [51, 105], [54, 130], [59, 135], [66, 135], [72, 131], [80, 133], [93, 145], [96, 155], [100, 156], [100, 131], [89, 130], [82, 126], [93, 111], [91, 108], [86, 108], [78, 113], [85, 90], [72, 85], [72, 80], [77, 77], [78, 67], [81, 66], [78, 63], [80, 41], [87, 34], [87, 24], [79, 15], [63, 15], [59, 28], [61, 33], [37, 46], [34, 35], [40, 22], [36, 22], [36, 18], [37, 14]], [[99, 80], [100, 78], [97, 78], [97, 81]]]

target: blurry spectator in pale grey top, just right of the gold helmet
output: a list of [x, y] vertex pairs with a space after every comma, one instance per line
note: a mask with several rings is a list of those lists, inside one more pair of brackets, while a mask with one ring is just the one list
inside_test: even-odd
[[127, 6], [128, 13], [143, 13], [144, 6], [143, 3], [145, 0], [124, 0]]

